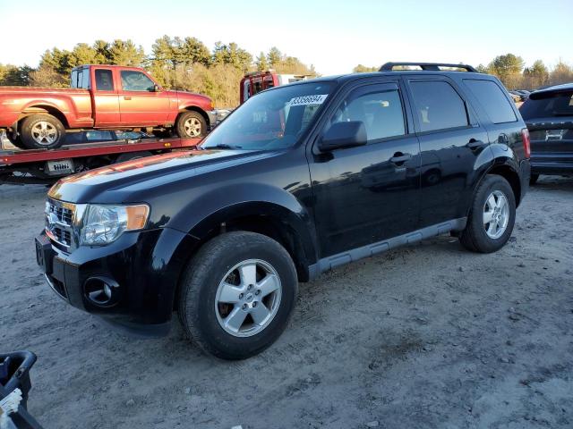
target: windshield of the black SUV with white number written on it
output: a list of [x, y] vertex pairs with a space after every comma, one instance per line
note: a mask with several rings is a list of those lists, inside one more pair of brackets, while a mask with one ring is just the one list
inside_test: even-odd
[[274, 150], [292, 147], [329, 97], [333, 82], [286, 85], [249, 98], [213, 130], [203, 148]]

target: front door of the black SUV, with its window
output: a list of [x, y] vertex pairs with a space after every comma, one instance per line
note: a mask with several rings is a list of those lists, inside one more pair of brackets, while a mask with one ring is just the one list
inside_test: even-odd
[[[399, 80], [362, 84], [339, 98], [314, 141], [309, 166], [321, 257], [414, 231], [420, 146]], [[334, 122], [362, 121], [368, 143], [320, 153]]]

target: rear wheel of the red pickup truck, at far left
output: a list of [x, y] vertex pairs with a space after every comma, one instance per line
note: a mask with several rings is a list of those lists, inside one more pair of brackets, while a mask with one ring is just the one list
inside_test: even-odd
[[27, 149], [55, 149], [62, 146], [65, 129], [51, 114], [32, 114], [21, 122], [20, 134]]

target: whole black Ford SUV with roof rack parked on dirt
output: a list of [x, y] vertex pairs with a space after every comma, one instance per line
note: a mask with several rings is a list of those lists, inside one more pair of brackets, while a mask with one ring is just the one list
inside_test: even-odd
[[412, 67], [271, 88], [195, 150], [59, 181], [37, 238], [47, 282], [128, 330], [165, 333], [175, 310], [237, 359], [338, 265], [444, 233], [498, 250], [528, 187], [521, 115], [470, 66], [396, 65]]

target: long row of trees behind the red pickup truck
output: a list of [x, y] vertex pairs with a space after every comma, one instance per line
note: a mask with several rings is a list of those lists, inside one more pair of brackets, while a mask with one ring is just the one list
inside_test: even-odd
[[218, 107], [239, 104], [239, 82], [247, 71], [274, 69], [278, 73], [315, 76], [312, 65], [284, 55], [277, 47], [253, 57], [236, 43], [217, 42], [210, 49], [198, 38], [158, 38], [146, 54], [132, 40], [96, 40], [72, 50], [54, 47], [41, 55], [38, 68], [0, 64], [0, 85], [66, 88], [70, 71], [81, 64], [141, 66], [164, 88], [205, 94]]

